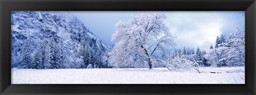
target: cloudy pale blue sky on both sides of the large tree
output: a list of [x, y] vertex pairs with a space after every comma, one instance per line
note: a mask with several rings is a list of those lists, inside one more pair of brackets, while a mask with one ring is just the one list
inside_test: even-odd
[[[145, 12], [135, 11], [84, 11], [69, 12], [81, 20], [85, 27], [92, 31], [106, 44], [114, 45], [111, 42], [111, 34], [115, 32], [115, 24], [118, 21], [128, 21], [131, 15]], [[177, 38], [176, 48], [201, 48], [209, 49], [214, 46], [215, 39], [220, 34], [228, 36], [236, 31], [236, 27], [244, 29], [245, 19], [239, 17], [238, 11], [219, 12], [193, 12], [193, 11], [165, 11], [167, 18], [164, 20], [170, 32]]]

